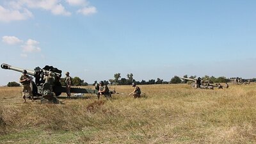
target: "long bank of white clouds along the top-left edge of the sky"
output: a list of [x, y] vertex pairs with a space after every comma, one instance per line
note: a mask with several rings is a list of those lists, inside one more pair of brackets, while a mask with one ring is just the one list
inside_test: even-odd
[[9, 0], [5, 4], [7, 7], [0, 5], [0, 21], [4, 22], [29, 19], [33, 17], [29, 11], [31, 9], [46, 10], [54, 15], [72, 15], [72, 12], [65, 8], [65, 4], [79, 6], [81, 9], [77, 10], [77, 13], [83, 15], [97, 13], [95, 6], [90, 6], [87, 0]]

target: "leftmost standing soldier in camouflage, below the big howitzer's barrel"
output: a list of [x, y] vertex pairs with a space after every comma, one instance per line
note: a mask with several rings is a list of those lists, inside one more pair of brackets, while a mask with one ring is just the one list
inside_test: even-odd
[[24, 102], [26, 102], [26, 92], [29, 93], [29, 97], [33, 98], [33, 93], [30, 88], [30, 77], [27, 75], [27, 70], [22, 71], [22, 76], [20, 76], [20, 83], [22, 84], [22, 98], [24, 99]]

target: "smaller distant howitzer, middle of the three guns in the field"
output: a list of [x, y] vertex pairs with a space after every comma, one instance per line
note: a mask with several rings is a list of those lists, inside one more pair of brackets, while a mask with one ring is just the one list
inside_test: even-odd
[[200, 77], [196, 78], [187, 78], [187, 77], [179, 77], [180, 79], [186, 79], [187, 81], [193, 81], [190, 86], [192, 88], [204, 88], [204, 89], [212, 89], [214, 88], [213, 85], [209, 84], [209, 83], [202, 83], [202, 79]]

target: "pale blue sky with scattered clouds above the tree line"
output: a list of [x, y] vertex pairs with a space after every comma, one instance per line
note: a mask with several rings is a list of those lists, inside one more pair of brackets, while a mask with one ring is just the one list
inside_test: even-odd
[[[88, 83], [132, 73], [256, 77], [256, 1], [0, 1], [1, 63]], [[0, 85], [20, 74], [0, 70]]]

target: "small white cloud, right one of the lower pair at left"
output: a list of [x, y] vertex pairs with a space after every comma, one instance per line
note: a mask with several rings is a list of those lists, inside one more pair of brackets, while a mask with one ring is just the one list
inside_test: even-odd
[[23, 52], [40, 52], [41, 48], [37, 47], [37, 45], [39, 44], [39, 42], [37, 42], [36, 40], [31, 40], [29, 39], [25, 45], [22, 45], [22, 51]]

